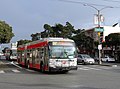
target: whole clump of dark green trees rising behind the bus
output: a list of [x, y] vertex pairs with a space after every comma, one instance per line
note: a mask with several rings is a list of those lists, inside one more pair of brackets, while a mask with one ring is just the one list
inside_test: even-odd
[[76, 45], [80, 48], [85, 48], [86, 51], [94, 50], [94, 40], [86, 36], [84, 33], [85, 29], [75, 30], [69, 22], [66, 22], [65, 26], [62, 24], [55, 24], [55, 26], [50, 26], [48, 24], [44, 25], [44, 31], [39, 34], [32, 34], [32, 40], [38, 40], [40, 35], [41, 38], [45, 37], [63, 37], [73, 39]]

